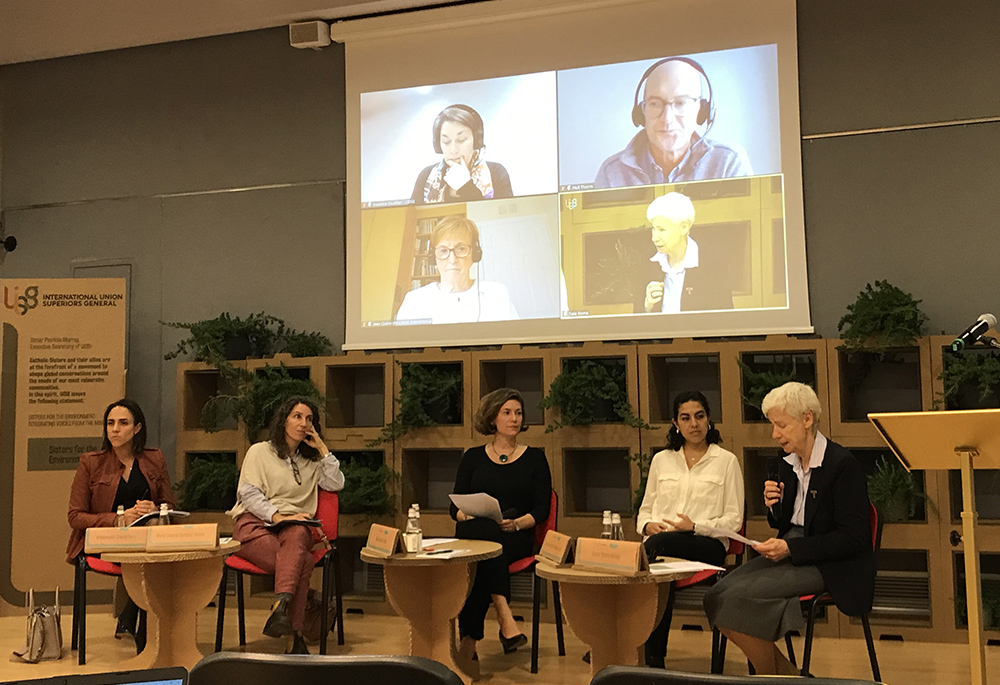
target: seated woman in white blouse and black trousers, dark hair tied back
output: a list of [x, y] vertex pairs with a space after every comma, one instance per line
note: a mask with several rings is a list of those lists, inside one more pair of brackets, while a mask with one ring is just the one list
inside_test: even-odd
[[[728, 541], [712, 529], [736, 532], [743, 525], [743, 473], [736, 455], [722, 449], [708, 400], [697, 391], [674, 398], [667, 449], [649, 467], [637, 517], [646, 555], [677, 557], [721, 566]], [[646, 642], [646, 664], [664, 667], [670, 617]]]

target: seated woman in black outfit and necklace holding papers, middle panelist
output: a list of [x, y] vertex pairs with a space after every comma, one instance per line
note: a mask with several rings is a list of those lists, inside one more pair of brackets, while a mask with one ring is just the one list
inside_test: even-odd
[[552, 501], [552, 474], [545, 453], [537, 447], [518, 444], [518, 435], [527, 429], [521, 393], [501, 388], [483, 397], [475, 427], [492, 439], [462, 456], [455, 494], [492, 495], [500, 503], [503, 520], [497, 523], [474, 518], [454, 504], [451, 517], [458, 522], [456, 537], [498, 542], [503, 545], [503, 553], [478, 563], [472, 590], [458, 615], [459, 665], [473, 670], [476, 643], [483, 639], [483, 621], [490, 604], [496, 608], [504, 653], [509, 654], [527, 642], [510, 611], [507, 567], [534, 554], [534, 527], [548, 518]]

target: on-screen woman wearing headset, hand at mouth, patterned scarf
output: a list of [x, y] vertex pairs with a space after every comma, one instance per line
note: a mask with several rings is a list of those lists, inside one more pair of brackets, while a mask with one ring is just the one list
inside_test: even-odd
[[441, 161], [420, 172], [413, 186], [418, 205], [513, 197], [510, 176], [483, 153], [483, 118], [468, 105], [449, 105], [434, 119], [434, 152]]

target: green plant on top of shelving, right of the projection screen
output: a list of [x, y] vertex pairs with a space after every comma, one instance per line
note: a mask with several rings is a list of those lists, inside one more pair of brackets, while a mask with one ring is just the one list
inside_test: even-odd
[[915, 345], [927, 323], [920, 302], [889, 281], [866, 283], [837, 323], [843, 347], [881, 356], [893, 347]]

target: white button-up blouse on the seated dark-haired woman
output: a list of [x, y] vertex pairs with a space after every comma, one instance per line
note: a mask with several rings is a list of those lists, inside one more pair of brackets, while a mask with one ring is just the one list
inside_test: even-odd
[[[698, 463], [688, 469], [683, 448], [663, 450], [649, 465], [646, 494], [636, 517], [636, 530], [650, 521], [676, 520], [686, 515], [695, 525], [736, 532], [743, 525], [743, 472], [736, 455], [709, 445]], [[673, 526], [667, 524], [670, 530]], [[722, 538], [720, 538], [722, 539]], [[728, 541], [723, 539], [728, 544]]]

